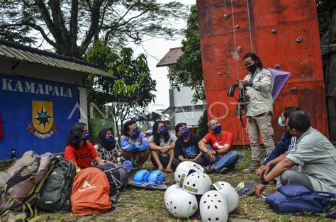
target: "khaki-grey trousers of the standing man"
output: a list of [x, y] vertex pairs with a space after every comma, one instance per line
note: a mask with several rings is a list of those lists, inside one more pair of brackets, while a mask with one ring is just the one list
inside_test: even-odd
[[271, 114], [247, 116], [247, 133], [250, 138], [252, 160], [260, 161], [259, 133], [262, 136], [262, 143], [264, 143], [267, 155], [274, 149]]

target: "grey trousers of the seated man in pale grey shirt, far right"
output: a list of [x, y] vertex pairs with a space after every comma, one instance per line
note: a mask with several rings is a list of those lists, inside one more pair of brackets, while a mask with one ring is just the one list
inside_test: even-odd
[[294, 170], [286, 170], [280, 176], [281, 184], [300, 184], [307, 189], [314, 190], [313, 184], [311, 184], [309, 177], [302, 172]]

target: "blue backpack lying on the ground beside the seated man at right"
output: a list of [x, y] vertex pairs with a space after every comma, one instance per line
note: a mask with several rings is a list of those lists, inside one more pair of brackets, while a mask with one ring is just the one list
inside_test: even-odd
[[332, 208], [332, 198], [335, 194], [312, 192], [302, 185], [289, 184], [268, 194], [266, 203], [278, 213], [322, 213]]

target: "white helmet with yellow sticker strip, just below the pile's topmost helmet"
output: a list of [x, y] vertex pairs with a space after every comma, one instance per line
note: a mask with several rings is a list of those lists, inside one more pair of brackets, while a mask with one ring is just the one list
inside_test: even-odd
[[211, 178], [203, 172], [193, 172], [189, 174], [183, 182], [183, 189], [191, 194], [204, 194], [211, 190]]

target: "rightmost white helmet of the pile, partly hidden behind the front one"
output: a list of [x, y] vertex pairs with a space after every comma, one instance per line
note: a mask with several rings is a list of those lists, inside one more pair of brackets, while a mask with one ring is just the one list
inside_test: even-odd
[[237, 208], [239, 203], [239, 195], [235, 188], [231, 186], [231, 184], [228, 182], [218, 181], [213, 184], [213, 188], [225, 196], [225, 199], [228, 202], [229, 213]]

